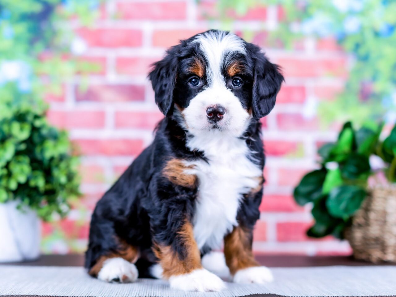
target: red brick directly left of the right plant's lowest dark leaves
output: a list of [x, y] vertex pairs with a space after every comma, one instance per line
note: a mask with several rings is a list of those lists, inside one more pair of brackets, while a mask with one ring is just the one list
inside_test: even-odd
[[277, 239], [280, 242], [305, 241], [311, 222], [281, 222], [276, 224]]

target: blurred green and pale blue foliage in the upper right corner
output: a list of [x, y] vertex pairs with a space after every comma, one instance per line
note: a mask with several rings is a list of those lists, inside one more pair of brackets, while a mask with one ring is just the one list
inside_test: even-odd
[[277, 5], [284, 10], [284, 18], [270, 31], [269, 41], [274, 46], [291, 48], [304, 36], [332, 36], [347, 53], [353, 54], [355, 60], [345, 89], [335, 102], [321, 103], [321, 119], [327, 123], [353, 120], [362, 124], [367, 118], [386, 114], [385, 120], [394, 122], [395, 0], [220, 0], [218, 8], [227, 23], [230, 8], [243, 15], [260, 5]]

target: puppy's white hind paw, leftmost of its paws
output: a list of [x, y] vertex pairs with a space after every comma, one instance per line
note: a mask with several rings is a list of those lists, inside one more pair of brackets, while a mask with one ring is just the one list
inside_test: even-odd
[[110, 258], [103, 262], [98, 279], [105, 282], [130, 283], [137, 280], [137, 268], [122, 258]]

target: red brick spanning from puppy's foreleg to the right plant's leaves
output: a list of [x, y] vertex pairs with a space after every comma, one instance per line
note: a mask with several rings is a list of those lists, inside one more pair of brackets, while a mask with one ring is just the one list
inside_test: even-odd
[[296, 204], [293, 196], [264, 194], [260, 205], [260, 211], [300, 212], [304, 211], [304, 208]]

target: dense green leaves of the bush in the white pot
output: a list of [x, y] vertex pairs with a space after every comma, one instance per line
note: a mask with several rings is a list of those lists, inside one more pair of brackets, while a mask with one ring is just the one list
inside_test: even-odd
[[48, 220], [64, 216], [79, 195], [78, 159], [32, 96], [13, 84], [0, 89], [0, 203], [20, 200]]

